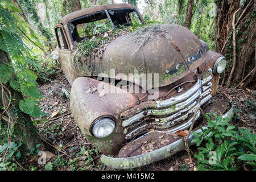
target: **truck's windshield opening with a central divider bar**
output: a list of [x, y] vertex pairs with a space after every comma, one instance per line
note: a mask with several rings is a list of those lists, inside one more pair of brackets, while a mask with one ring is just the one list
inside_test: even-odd
[[112, 23], [114, 27], [119, 28], [132, 26], [133, 24], [143, 24], [143, 21], [134, 9], [103, 10], [71, 20], [68, 23], [68, 29], [72, 41], [81, 42], [86, 37], [110, 30], [113, 28]]

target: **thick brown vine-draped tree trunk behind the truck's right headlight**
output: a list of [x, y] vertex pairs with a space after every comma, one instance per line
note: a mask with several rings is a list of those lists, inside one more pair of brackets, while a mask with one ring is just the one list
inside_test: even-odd
[[[253, 0], [243, 2], [242, 5], [240, 5], [239, 0], [232, 2], [216, 1], [216, 5], [216, 51], [222, 53], [228, 60], [225, 74], [222, 74], [220, 82], [222, 85], [227, 83], [233, 67], [234, 56], [236, 56], [234, 72], [230, 77], [228, 86], [240, 84], [239, 86], [255, 89], [255, 3]], [[240, 7], [241, 10], [237, 12], [234, 21], [236, 27], [236, 48], [234, 51], [232, 19], [234, 12]]]

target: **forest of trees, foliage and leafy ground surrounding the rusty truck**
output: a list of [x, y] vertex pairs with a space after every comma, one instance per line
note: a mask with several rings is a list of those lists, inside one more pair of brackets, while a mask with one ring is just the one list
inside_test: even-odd
[[[64, 15], [109, 3], [137, 6], [146, 24], [181, 24], [226, 57], [217, 97], [232, 101], [232, 125], [250, 129], [254, 140], [243, 149], [251, 160], [230, 156], [223, 169], [255, 169], [255, 0], [1, 0], [0, 170], [110, 169], [73, 121], [53, 29]], [[41, 150], [46, 164], [38, 164]], [[137, 170], [196, 170], [197, 156], [184, 151]]]

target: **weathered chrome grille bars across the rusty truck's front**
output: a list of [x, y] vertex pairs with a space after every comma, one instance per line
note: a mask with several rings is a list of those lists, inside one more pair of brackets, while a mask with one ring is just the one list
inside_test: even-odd
[[[212, 69], [208, 71], [212, 73]], [[198, 79], [196, 84], [186, 92], [167, 100], [156, 101], [155, 108], [140, 111], [132, 117], [123, 120], [122, 126], [125, 128], [125, 138], [131, 139], [139, 134], [143, 134], [151, 126], [155, 128], [155, 131], [166, 133], [187, 129], [192, 123], [195, 109], [212, 98], [210, 94], [212, 92], [211, 80], [212, 74], [209, 74], [208, 77], [201, 80]], [[167, 115], [167, 117], [163, 118], [163, 115]], [[146, 117], [151, 119], [147, 121]], [[199, 117], [200, 111], [197, 111], [196, 119]], [[176, 125], [179, 126], [174, 127]]]

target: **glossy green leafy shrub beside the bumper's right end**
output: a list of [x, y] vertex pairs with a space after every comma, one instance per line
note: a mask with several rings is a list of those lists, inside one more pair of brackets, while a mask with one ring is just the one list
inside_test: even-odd
[[[237, 170], [238, 164], [247, 163], [255, 170], [256, 161], [256, 134], [251, 134], [250, 129], [242, 129], [230, 125], [229, 119], [206, 114], [208, 129], [201, 127], [200, 133], [195, 133], [192, 143], [200, 146], [198, 170]], [[214, 118], [214, 119], [212, 119]], [[204, 144], [203, 144], [204, 143]]]

